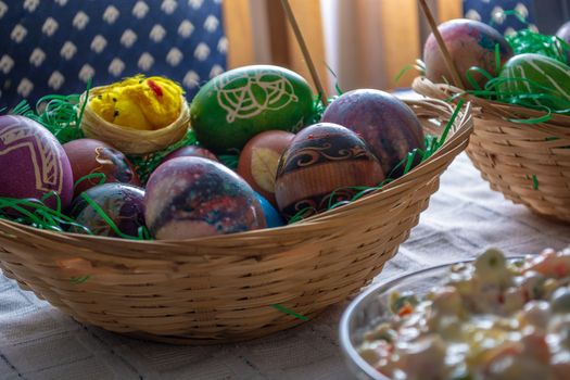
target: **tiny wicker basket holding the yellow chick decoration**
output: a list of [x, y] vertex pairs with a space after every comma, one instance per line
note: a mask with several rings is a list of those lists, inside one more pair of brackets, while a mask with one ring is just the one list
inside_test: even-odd
[[[110, 86], [93, 87], [89, 91], [89, 99], [106, 91]], [[85, 101], [84, 92], [80, 102]], [[87, 103], [85, 107], [81, 129], [85, 136], [109, 142], [125, 154], [147, 154], [160, 151], [181, 140], [190, 127], [190, 109], [182, 96], [180, 116], [170, 125], [156, 130], [138, 130], [109, 123], [99, 116]]]

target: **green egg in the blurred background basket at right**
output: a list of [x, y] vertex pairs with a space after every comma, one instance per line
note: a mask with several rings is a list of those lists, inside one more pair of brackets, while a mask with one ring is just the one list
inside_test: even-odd
[[[501, 72], [499, 99], [553, 111], [570, 109], [570, 66], [549, 56], [525, 53], [511, 58]], [[524, 98], [524, 94], [540, 94]], [[522, 96], [522, 97], [521, 97]]]

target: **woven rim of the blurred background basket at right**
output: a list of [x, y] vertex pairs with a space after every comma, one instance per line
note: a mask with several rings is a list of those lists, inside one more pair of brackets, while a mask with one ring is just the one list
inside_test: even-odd
[[[444, 100], [453, 96], [457, 96], [457, 99], [465, 99], [470, 101], [473, 104], [473, 111], [476, 111], [474, 116], [478, 116], [477, 109], [481, 109], [485, 114], [492, 114], [499, 117], [512, 118], [512, 119], [523, 119], [523, 118], [539, 118], [546, 116], [548, 113], [545, 111], [533, 110], [523, 107], [520, 105], [502, 103], [494, 100], [486, 100], [482, 98], [474, 97], [467, 93], [464, 89], [448, 85], [448, 84], [436, 84], [431, 81], [425, 76], [418, 76], [414, 79], [411, 88], [425, 96], [432, 99]], [[428, 91], [425, 91], [428, 89]], [[547, 122], [536, 123], [536, 124], [524, 124], [524, 126], [550, 126], [550, 127], [560, 127], [561, 132], [570, 130], [570, 116], [553, 113], [552, 117]]]

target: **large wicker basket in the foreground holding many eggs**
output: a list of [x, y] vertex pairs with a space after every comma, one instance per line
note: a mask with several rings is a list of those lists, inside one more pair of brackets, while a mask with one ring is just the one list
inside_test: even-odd
[[[408, 101], [430, 131], [445, 102]], [[77, 320], [170, 343], [246, 340], [303, 322], [369, 283], [468, 144], [470, 105], [445, 144], [382, 191], [282, 228], [186, 241], [56, 233], [0, 220], [8, 277]], [[80, 279], [80, 280], [77, 280]]]

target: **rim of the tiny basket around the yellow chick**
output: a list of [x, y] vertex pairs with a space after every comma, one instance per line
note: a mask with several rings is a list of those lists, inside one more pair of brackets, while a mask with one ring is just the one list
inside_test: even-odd
[[[85, 106], [85, 110], [86, 111], [89, 110], [88, 112], [92, 113], [93, 117], [99, 123], [104, 125], [106, 129], [112, 130], [112, 131], [117, 131], [123, 135], [130, 135], [134, 138], [153, 139], [153, 138], [161, 137], [163, 135], [168, 135], [169, 132], [172, 132], [173, 129], [177, 129], [180, 124], [186, 124], [187, 129], [190, 128], [190, 106], [188, 105], [188, 101], [186, 100], [186, 97], [183, 96], [183, 93], [180, 96], [180, 104], [181, 104], [180, 114], [173, 123], [168, 124], [167, 126], [163, 128], [154, 129], [154, 130], [135, 129], [135, 128], [129, 128], [129, 127], [123, 127], [117, 124], [105, 121], [103, 117], [101, 117], [97, 112], [94, 112], [91, 109], [90, 100], [93, 97], [97, 97], [99, 93], [104, 92], [110, 87], [111, 86], [99, 86], [99, 87], [91, 88], [89, 90], [88, 102]], [[81, 93], [81, 96], [79, 97], [79, 103], [83, 103], [85, 101], [86, 96], [87, 96], [87, 91]]]

